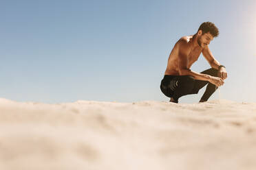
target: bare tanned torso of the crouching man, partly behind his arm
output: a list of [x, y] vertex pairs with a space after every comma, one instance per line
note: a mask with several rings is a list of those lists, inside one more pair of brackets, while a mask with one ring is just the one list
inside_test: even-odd
[[[169, 55], [167, 69], [166, 69], [164, 75], [180, 75], [180, 73], [178, 71], [178, 61], [179, 61], [178, 51], [179, 51], [180, 41], [186, 40], [188, 45], [191, 45], [191, 48], [192, 48], [193, 47], [192, 38], [193, 38], [193, 36], [184, 36], [184, 37], [180, 38], [180, 40], [178, 40], [178, 42], [176, 42], [175, 46], [173, 47], [173, 50], [171, 51], [171, 53]], [[188, 69], [190, 69], [191, 65], [196, 60], [198, 60], [201, 52], [202, 52], [202, 47], [199, 47], [199, 46], [191, 49], [191, 51], [189, 52], [189, 55], [188, 55]]]

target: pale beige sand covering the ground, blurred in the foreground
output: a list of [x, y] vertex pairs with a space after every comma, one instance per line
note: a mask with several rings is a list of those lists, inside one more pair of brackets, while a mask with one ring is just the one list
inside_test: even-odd
[[0, 169], [256, 169], [256, 104], [0, 99]]

